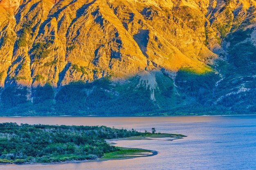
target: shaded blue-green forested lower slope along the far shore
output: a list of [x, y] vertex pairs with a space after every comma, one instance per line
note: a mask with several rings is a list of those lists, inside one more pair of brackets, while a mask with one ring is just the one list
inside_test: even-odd
[[139, 77], [124, 83], [107, 78], [92, 83], [72, 82], [60, 89], [49, 84], [31, 91], [10, 87], [2, 92], [0, 113], [5, 116], [254, 114], [256, 79], [243, 74], [226, 73], [220, 77], [215, 72], [198, 75], [184, 69], [173, 81], [159, 72], [155, 74], [154, 88]]

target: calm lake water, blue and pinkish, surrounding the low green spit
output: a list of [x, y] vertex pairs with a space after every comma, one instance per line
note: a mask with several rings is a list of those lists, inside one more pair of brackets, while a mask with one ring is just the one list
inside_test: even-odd
[[64, 164], [0, 165], [0, 170], [256, 170], [256, 116], [0, 117], [2, 122], [105, 125], [187, 135], [174, 141], [114, 140], [116, 146], [156, 150], [153, 157]]

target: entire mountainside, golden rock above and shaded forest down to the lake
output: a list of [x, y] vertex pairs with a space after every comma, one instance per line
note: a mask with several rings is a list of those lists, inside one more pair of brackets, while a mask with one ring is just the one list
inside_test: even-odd
[[0, 0], [0, 113], [254, 114], [255, 16], [255, 0]]

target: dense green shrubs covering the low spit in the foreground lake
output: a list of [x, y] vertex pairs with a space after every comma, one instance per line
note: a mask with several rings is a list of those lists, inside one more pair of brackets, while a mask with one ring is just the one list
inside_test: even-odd
[[106, 126], [0, 124], [0, 163], [52, 163], [97, 159], [119, 150], [105, 139], [138, 136]]

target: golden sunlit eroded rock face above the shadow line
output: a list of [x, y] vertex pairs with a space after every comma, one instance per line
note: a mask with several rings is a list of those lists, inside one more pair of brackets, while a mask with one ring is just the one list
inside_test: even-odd
[[[254, 0], [1, 0], [0, 86], [202, 73], [255, 26]], [[173, 74], [171, 74], [173, 73]]]

